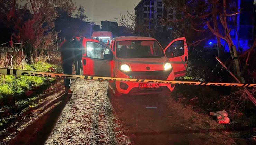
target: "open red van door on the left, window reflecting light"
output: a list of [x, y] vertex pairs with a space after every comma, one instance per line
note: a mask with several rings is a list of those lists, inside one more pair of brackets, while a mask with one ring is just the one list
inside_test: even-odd
[[113, 77], [113, 51], [103, 42], [83, 39], [83, 75]]

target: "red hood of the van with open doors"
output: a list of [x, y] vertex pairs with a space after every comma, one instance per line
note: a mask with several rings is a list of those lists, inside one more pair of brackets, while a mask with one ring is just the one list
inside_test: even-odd
[[160, 58], [129, 58], [116, 59], [118, 62], [128, 64], [131, 71], [159, 71], [164, 70], [164, 62], [168, 59], [166, 57]]

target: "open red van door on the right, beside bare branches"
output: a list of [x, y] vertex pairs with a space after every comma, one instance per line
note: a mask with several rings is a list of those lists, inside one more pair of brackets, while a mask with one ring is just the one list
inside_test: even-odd
[[188, 45], [186, 38], [173, 40], [164, 50], [166, 57], [171, 61], [175, 78], [186, 75], [188, 62]]

